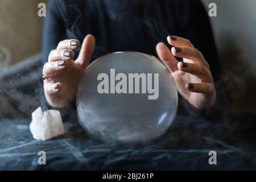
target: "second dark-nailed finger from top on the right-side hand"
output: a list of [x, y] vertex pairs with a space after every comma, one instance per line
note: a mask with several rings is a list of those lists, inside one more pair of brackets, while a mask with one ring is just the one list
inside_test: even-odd
[[189, 59], [197, 64], [203, 64], [205, 67], [209, 67], [207, 61], [204, 59], [204, 56], [198, 49], [190, 47], [172, 47], [171, 51], [172, 55], [176, 57]]

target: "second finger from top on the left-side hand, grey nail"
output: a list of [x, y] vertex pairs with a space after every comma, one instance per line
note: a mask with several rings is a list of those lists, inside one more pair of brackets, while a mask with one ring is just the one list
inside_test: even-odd
[[73, 59], [75, 53], [69, 49], [55, 49], [49, 53], [48, 61]]

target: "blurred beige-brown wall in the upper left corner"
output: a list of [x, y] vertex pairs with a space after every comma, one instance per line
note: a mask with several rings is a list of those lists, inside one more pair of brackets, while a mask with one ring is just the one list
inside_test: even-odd
[[[43, 18], [38, 4], [46, 0], [0, 1], [0, 58], [15, 64], [40, 51]], [[10, 57], [6, 57], [7, 53]]]

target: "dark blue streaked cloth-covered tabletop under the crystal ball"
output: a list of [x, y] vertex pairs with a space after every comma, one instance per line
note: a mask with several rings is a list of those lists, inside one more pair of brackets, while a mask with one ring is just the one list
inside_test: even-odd
[[[32, 138], [31, 119], [0, 121], [0, 170], [179, 170], [256, 169], [255, 147], [241, 142], [226, 126], [197, 117], [177, 116], [170, 130], [140, 145], [103, 143], [75, 122], [64, 122], [65, 135], [41, 141]], [[209, 165], [209, 151], [217, 165]], [[46, 152], [46, 165], [38, 152]]]

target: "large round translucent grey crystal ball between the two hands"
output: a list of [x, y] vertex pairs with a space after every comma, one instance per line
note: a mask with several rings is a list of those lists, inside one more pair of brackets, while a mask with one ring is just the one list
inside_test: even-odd
[[164, 134], [177, 111], [170, 71], [139, 52], [105, 55], [86, 68], [77, 92], [80, 125], [115, 142], [144, 142]]

